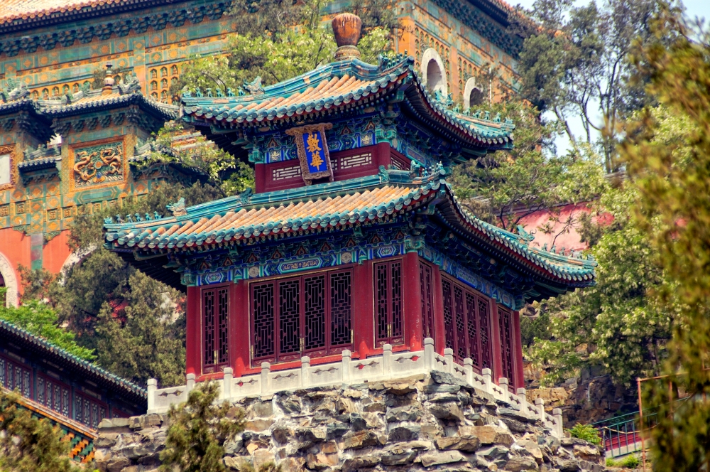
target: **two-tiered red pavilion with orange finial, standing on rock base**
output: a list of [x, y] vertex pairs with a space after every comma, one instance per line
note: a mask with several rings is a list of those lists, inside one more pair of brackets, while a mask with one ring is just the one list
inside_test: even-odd
[[[594, 281], [593, 261], [459, 204], [451, 166], [508, 149], [513, 125], [447, 108], [411, 57], [361, 62], [359, 21], [334, 18], [329, 65], [251, 95], [183, 95], [182, 119], [253, 163], [255, 192], [107, 220], [110, 250], [187, 290], [188, 388], [223, 378], [234, 397], [441, 363], [515, 392], [518, 309]], [[185, 388], [153, 394], [149, 411]]]

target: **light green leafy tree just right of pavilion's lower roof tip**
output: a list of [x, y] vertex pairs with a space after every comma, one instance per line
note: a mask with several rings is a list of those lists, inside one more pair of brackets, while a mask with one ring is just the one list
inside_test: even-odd
[[535, 304], [550, 313], [550, 338], [537, 338], [526, 357], [549, 372], [544, 385], [601, 365], [614, 382], [629, 387], [638, 376], [656, 375], [670, 338], [672, 314], [649, 297], [662, 284], [662, 270], [648, 235], [631, 220], [637, 198], [632, 186], [606, 191], [597, 211], [613, 217], [591, 248], [596, 285]]

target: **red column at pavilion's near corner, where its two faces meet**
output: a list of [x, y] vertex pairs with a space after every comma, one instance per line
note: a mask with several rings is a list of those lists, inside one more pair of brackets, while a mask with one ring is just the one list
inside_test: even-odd
[[419, 275], [419, 254], [408, 252], [403, 262], [404, 333], [410, 350], [424, 348], [422, 331], [422, 287]]

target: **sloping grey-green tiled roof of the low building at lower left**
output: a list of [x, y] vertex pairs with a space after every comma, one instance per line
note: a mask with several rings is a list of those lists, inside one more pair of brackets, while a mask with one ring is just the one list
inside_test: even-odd
[[32, 348], [42, 353], [45, 358], [53, 360], [55, 363], [67, 365], [68, 368], [80, 372], [80, 375], [84, 375], [88, 379], [102, 382], [104, 385], [114, 388], [124, 395], [129, 395], [133, 399], [147, 401], [148, 393], [146, 390], [133, 382], [114, 375], [84, 359], [77, 358], [75, 355], [53, 345], [48, 340], [18, 328], [12, 323], [0, 320], [0, 335], [15, 338], [19, 343], [31, 345]]

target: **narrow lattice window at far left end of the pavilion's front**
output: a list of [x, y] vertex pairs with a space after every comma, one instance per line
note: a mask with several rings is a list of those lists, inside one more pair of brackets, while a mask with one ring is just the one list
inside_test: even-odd
[[229, 286], [202, 290], [202, 366], [212, 372], [229, 361]]

